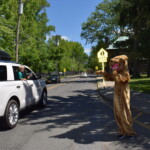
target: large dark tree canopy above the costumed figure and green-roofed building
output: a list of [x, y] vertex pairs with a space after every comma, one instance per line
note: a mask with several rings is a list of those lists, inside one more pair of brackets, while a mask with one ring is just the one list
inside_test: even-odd
[[[137, 60], [144, 58], [150, 66], [150, 1], [149, 0], [103, 0], [82, 24], [81, 37], [87, 43], [95, 43], [90, 60], [97, 51], [107, 48], [120, 36], [128, 36], [126, 44], [129, 56], [137, 66]], [[97, 61], [93, 67], [98, 65]], [[150, 72], [150, 67], [149, 67]]]

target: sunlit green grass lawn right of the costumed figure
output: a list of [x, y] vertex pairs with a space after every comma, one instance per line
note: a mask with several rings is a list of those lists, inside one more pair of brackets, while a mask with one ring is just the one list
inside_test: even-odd
[[130, 88], [135, 91], [150, 94], [150, 78], [146, 78], [144, 76], [142, 78], [137, 79], [131, 78]]

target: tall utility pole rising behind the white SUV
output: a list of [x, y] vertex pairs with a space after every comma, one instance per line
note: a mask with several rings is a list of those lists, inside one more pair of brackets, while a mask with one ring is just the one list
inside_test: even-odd
[[16, 62], [18, 62], [18, 53], [19, 53], [19, 30], [20, 30], [20, 17], [23, 14], [23, 2], [22, 0], [18, 1], [18, 21], [17, 21], [17, 32], [16, 32]]

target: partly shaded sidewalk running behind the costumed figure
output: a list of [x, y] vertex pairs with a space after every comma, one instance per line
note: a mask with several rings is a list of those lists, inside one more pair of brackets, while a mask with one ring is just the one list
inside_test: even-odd
[[[102, 77], [96, 77], [97, 87], [100, 95], [110, 101], [113, 101], [114, 82], [105, 81], [103, 88]], [[140, 93], [131, 90], [131, 107], [146, 114], [150, 114], [150, 94]]]

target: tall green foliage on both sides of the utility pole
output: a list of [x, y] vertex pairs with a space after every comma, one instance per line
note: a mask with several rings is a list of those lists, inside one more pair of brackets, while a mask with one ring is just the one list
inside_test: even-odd
[[[19, 62], [30, 66], [34, 71], [45, 71], [51, 64], [47, 60], [46, 36], [54, 31], [54, 26], [47, 25], [45, 8], [50, 4], [47, 0], [23, 0], [23, 2]], [[1, 0], [0, 5], [0, 47], [7, 51], [14, 60], [18, 1]]]

